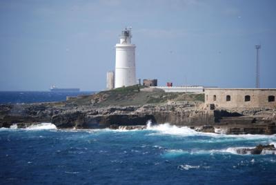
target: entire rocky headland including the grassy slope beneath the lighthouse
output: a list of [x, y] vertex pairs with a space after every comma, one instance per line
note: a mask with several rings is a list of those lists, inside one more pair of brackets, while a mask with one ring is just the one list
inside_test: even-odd
[[52, 122], [57, 128], [117, 128], [143, 126], [148, 120], [201, 132], [276, 133], [275, 109], [208, 110], [201, 95], [184, 93], [108, 91], [66, 102], [0, 105], [0, 128], [41, 122]]

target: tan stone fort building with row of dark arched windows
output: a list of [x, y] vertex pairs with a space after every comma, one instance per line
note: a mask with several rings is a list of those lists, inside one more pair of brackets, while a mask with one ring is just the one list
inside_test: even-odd
[[221, 108], [276, 108], [275, 88], [205, 88], [205, 104]]

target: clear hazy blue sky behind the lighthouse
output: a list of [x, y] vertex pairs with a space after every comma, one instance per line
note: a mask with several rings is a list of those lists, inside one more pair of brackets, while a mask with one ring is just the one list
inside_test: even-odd
[[274, 0], [0, 0], [0, 90], [104, 90], [132, 26], [137, 79], [276, 88]]

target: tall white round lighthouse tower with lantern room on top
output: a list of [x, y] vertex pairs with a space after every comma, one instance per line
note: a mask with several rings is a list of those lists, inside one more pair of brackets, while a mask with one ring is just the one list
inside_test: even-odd
[[135, 44], [131, 43], [131, 27], [121, 31], [116, 48], [115, 88], [137, 84], [135, 68]]

